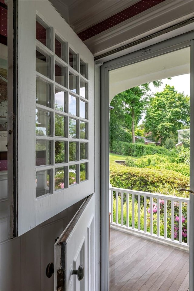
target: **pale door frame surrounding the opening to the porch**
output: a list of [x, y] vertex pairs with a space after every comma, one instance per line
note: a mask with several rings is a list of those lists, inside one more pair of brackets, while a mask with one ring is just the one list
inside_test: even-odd
[[[158, 55], [190, 46], [190, 189], [194, 190], [194, 31], [151, 45], [151, 51], [142, 50], [105, 62], [101, 66], [101, 290], [109, 289], [109, 71], [143, 61]], [[192, 178], [193, 177], [193, 178]], [[194, 195], [190, 194], [190, 260], [189, 286], [194, 290]]]

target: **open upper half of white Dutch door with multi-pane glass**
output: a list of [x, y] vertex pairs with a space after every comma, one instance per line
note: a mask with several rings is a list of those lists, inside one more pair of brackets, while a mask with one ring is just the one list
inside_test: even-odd
[[13, 5], [11, 237], [94, 193], [94, 57], [49, 1]]

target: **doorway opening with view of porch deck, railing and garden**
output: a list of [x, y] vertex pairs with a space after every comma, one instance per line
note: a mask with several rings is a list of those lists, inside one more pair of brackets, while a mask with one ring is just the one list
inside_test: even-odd
[[[122, 136], [120, 141], [118, 136], [114, 140], [115, 129], [112, 131], [114, 134], [110, 132], [110, 150], [114, 154], [110, 156], [112, 185], [109, 189], [109, 290], [189, 289], [189, 195], [180, 194], [186, 192], [178, 192], [176, 189], [189, 184], [189, 161], [186, 161], [186, 153], [189, 153], [190, 127], [189, 119], [184, 119], [186, 111], [182, 117], [177, 115], [174, 121], [173, 116], [175, 112], [180, 115], [183, 113], [183, 109], [189, 104], [189, 97], [186, 98], [185, 95], [190, 94], [176, 92], [176, 86], [165, 87], [164, 84], [165, 88], [161, 92], [153, 93], [151, 97], [144, 92], [140, 94], [142, 99], [139, 98], [133, 103], [138, 95], [137, 91], [135, 94], [134, 87], [145, 90], [149, 82], [164, 78], [172, 80], [179, 75], [182, 75], [182, 81], [183, 76], [189, 73], [189, 47], [139, 61], [109, 73], [109, 101], [117, 95], [115, 107], [119, 111], [121, 99], [118, 97], [122, 95], [119, 93], [125, 91], [132, 104], [127, 106], [125, 102], [124, 111], [129, 115], [131, 113], [131, 116], [125, 118], [128, 118], [128, 124], [131, 122], [133, 141], [129, 143], [130, 130], [126, 131], [121, 124], [121, 118], [110, 121], [110, 125], [114, 127], [114, 123], [119, 120], [121, 128], [118, 134]], [[143, 85], [140, 86], [141, 84]], [[183, 99], [185, 97], [182, 104], [181, 96]], [[176, 104], [176, 99], [179, 105]], [[169, 104], [165, 104], [165, 100]], [[110, 104], [114, 106], [113, 103], [112, 101]], [[132, 107], [139, 114], [136, 119]], [[140, 126], [141, 122], [139, 128], [136, 127], [135, 134], [134, 120], [137, 124], [143, 107], [146, 108], [144, 126]], [[110, 118], [114, 116], [112, 112]], [[122, 116], [123, 112], [117, 113]], [[148, 134], [147, 137], [145, 133]], [[121, 156], [114, 157], [116, 154]], [[122, 155], [128, 157], [125, 159]], [[180, 156], [183, 157], [182, 163]], [[116, 159], [124, 160], [123, 163], [128, 167], [116, 164]], [[173, 181], [171, 178], [168, 180], [167, 176], [172, 177]], [[180, 250], [180, 247], [184, 250]]]

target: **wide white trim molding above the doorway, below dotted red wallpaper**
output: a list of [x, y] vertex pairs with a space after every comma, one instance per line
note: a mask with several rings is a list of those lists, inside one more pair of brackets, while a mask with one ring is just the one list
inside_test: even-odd
[[85, 40], [84, 43], [97, 57], [193, 17], [193, 1], [164, 1]]

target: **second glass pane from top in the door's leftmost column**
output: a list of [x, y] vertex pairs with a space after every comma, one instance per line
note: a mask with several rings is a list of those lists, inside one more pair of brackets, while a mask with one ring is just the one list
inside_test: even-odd
[[36, 71], [50, 78], [51, 58], [36, 50]]

